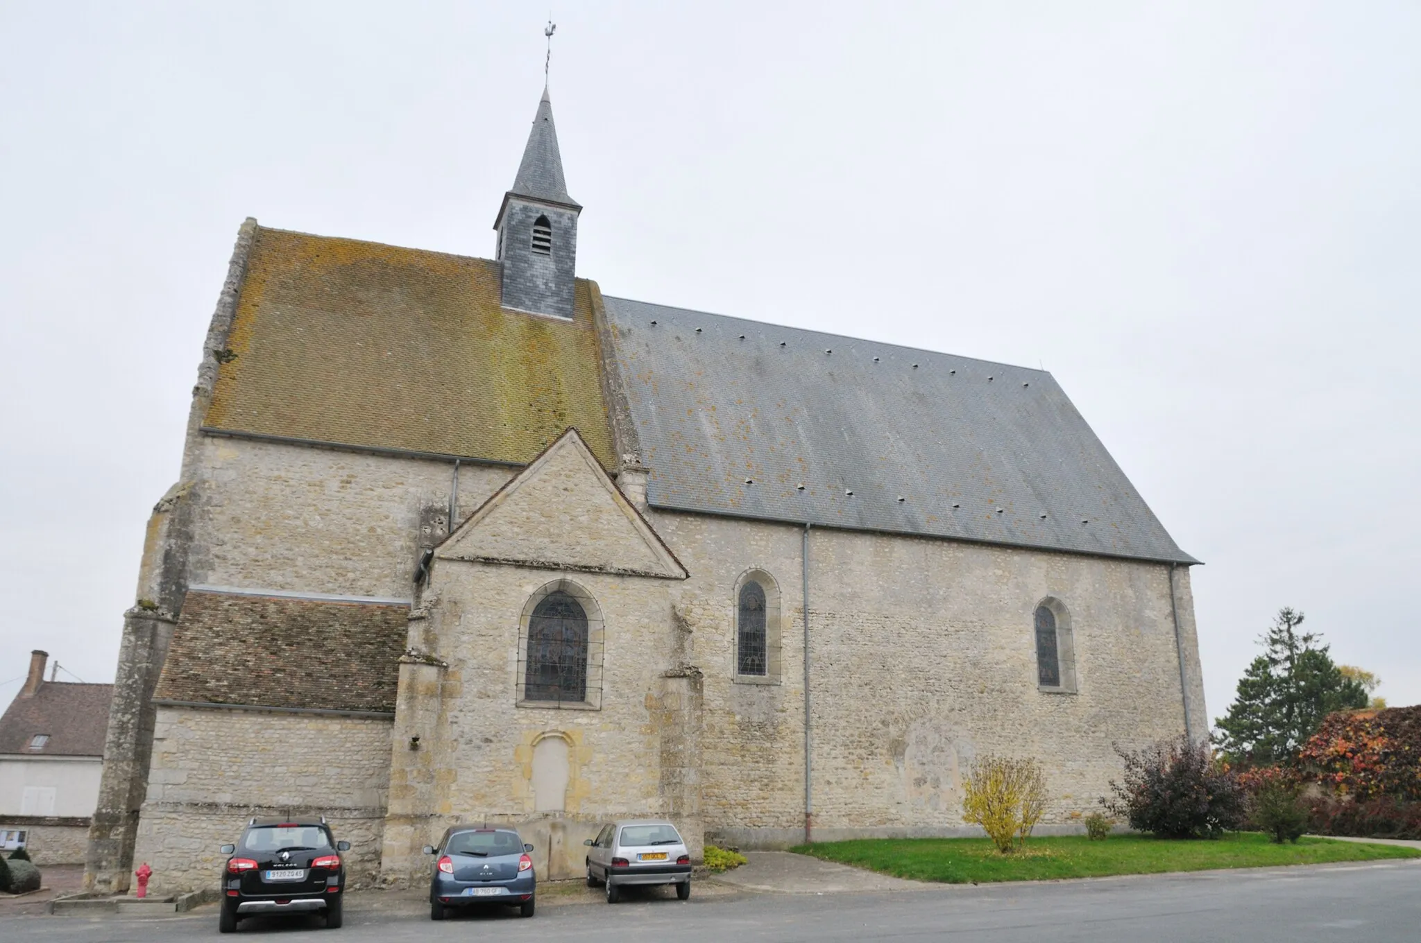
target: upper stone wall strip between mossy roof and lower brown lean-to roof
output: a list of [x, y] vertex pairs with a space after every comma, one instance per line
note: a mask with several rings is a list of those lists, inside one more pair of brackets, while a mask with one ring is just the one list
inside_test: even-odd
[[[406, 599], [453, 463], [205, 436], [190, 582]], [[459, 518], [512, 471], [460, 464]]]

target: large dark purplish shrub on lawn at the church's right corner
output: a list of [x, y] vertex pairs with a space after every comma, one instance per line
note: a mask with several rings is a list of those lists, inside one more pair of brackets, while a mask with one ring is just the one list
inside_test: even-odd
[[1114, 800], [1100, 800], [1140, 832], [1160, 838], [1218, 838], [1246, 821], [1248, 794], [1238, 774], [1215, 763], [1202, 743], [1179, 736], [1142, 750], [1115, 753], [1125, 764], [1123, 783], [1110, 781]]

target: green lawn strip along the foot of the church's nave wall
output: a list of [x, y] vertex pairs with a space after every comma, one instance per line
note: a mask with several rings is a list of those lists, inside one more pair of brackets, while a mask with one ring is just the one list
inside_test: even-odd
[[1111, 835], [1100, 842], [1084, 835], [1033, 838], [1025, 851], [1012, 855], [998, 854], [985, 838], [875, 838], [799, 845], [790, 851], [897, 878], [946, 883], [1421, 858], [1421, 851], [1400, 845], [1358, 845], [1326, 838], [1273, 845], [1266, 836], [1250, 832], [1218, 841], [1169, 841], [1148, 835]]

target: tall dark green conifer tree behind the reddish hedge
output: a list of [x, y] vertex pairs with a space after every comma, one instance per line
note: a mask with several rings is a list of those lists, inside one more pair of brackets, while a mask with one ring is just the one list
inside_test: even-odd
[[1367, 689], [1346, 677], [1319, 645], [1300, 632], [1303, 614], [1277, 611], [1259, 643], [1263, 653], [1239, 679], [1229, 713], [1214, 721], [1215, 744], [1231, 763], [1292, 763], [1323, 717], [1346, 707], [1366, 707]]

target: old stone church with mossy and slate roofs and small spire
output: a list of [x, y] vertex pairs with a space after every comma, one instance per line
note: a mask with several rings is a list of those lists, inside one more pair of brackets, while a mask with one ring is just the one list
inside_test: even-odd
[[604, 295], [547, 92], [489, 209], [493, 258], [240, 227], [87, 888], [206, 888], [252, 815], [388, 885], [455, 822], [540, 878], [621, 817], [971, 834], [986, 753], [1069, 832], [1113, 744], [1205, 736], [1196, 561], [1050, 374]]

